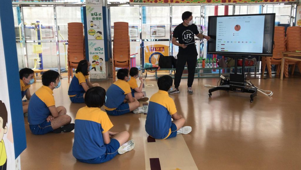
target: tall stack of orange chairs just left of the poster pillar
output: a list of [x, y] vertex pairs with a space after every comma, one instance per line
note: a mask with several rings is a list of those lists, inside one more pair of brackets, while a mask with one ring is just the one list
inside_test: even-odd
[[84, 27], [81, 22], [68, 23], [68, 82], [84, 56]]

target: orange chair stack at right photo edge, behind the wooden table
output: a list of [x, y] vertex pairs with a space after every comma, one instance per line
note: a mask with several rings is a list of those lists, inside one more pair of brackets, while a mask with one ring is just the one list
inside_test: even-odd
[[[301, 27], [287, 27], [286, 30], [286, 49], [288, 52], [296, 53], [301, 51]], [[285, 59], [284, 76], [288, 77], [288, 65], [293, 65], [291, 74], [295, 71], [296, 64], [299, 70], [301, 70], [301, 62], [296, 60]]]

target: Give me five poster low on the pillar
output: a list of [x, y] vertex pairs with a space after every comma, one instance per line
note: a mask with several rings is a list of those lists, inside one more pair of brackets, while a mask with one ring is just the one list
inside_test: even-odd
[[104, 61], [104, 40], [88, 40], [89, 61], [92, 65], [91, 79], [106, 79], [106, 65]]

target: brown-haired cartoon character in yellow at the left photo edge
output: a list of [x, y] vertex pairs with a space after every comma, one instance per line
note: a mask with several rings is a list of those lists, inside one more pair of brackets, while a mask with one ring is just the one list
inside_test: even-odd
[[7, 109], [5, 107], [5, 104], [0, 100], [0, 169], [6, 170], [7, 167], [7, 155], [6, 155], [6, 149], [3, 141], [4, 134], [7, 133]]

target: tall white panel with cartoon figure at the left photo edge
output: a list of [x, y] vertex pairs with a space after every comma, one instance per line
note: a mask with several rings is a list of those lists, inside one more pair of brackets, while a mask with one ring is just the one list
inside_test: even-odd
[[[2, 31], [0, 25], [0, 40], [2, 40]], [[3, 48], [3, 42], [0, 42], [0, 49]], [[8, 96], [8, 81], [5, 66], [4, 51], [0, 50], [0, 169], [15, 169], [15, 155], [14, 155], [14, 140], [11, 123], [11, 107]], [[20, 113], [21, 114], [21, 113]], [[23, 114], [23, 113], [22, 113]]]

